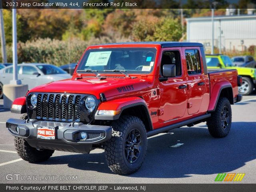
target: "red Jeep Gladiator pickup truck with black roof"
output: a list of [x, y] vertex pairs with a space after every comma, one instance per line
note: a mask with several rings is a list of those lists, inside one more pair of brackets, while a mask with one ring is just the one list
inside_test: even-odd
[[205, 121], [213, 137], [225, 137], [241, 82], [233, 69], [209, 72], [200, 43], [89, 46], [72, 78], [14, 100], [11, 112], [24, 115], [6, 128], [28, 162], [102, 148], [112, 172], [131, 174], [144, 162], [147, 137]]

